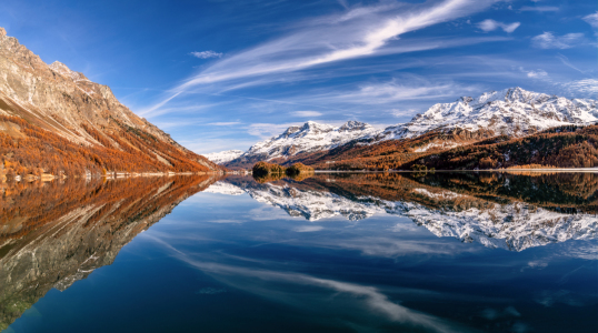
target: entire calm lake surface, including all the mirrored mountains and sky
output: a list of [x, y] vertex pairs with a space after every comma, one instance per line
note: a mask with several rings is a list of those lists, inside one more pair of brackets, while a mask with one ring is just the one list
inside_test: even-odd
[[2, 332], [598, 332], [598, 175], [0, 188]]

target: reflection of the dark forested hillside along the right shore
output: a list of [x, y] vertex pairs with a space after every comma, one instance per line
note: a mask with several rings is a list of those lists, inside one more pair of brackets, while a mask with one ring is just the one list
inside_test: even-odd
[[[301, 182], [281, 179], [271, 183], [329, 191], [349, 199], [367, 195], [388, 201], [408, 200], [433, 208], [446, 206], [448, 202], [430, 201], [431, 198], [418, 195], [412, 189], [449, 190], [468, 195], [467, 201], [478, 201], [476, 204], [480, 204], [480, 200], [490, 203], [520, 201], [561, 212], [598, 212], [598, 174], [595, 173], [320, 173]], [[462, 210], [471, 202], [466, 204], [461, 196], [450, 204]]]

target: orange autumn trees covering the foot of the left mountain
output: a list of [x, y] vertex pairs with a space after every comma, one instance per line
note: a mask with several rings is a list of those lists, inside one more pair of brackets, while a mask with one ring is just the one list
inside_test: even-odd
[[103, 134], [91, 124], [82, 124], [99, 144], [81, 144], [21, 118], [0, 115], [0, 123], [18, 129], [0, 131], [0, 163], [8, 179], [41, 173], [70, 176], [108, 172], [211, 171], [205, 158], [123, 125]]

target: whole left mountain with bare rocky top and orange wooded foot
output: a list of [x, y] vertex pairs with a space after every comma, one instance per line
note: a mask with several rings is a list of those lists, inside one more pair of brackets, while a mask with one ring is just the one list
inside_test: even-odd
[[2, 28], [0, 73], [0, 179], [222, 170], [131, 112], [109, 87], [61, 62], [48, 65]]

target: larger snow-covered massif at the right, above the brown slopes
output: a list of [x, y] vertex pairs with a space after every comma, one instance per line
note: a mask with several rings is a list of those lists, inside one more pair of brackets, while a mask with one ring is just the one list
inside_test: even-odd
[[554, 127], [597, 121], [598, 103], [595, 100], [568, 100], [509, 88], [476, 99], [464, 97], [454, 103], [435, 104], [408, 123], [387, 128], [376, 139], [410, 139], [432, 130], [452, 129], [491, 130], [495, 135], [524, 137]]

